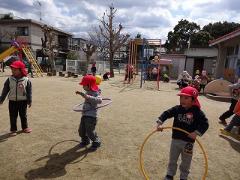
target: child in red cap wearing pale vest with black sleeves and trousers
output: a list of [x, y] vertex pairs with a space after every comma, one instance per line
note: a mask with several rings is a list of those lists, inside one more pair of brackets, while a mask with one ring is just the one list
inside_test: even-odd
[[10, 135], [17, 135], [17, 117], [18, 113], [21, 119], [22, 130], [30, 133], [32, 130], [27, 123], [27, 105], [32, 105], [32, 84], [26, 77], [27, 72], [22, 61], [14, 61], [11, 65], [12, 75], [5, 81], [0, 96], [0, 104], [3, 103], [6, 96], [9, 98], [9, 115], [10, 115]]

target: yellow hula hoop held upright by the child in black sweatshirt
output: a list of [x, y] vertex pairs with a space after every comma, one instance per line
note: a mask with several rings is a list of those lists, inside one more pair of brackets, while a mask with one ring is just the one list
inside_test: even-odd
[[[189, 132], [181, 129], [181, 128], [176, 128], [176, 127], [163, 127], [163, 129], [175, 129], [175, 130], [178, 130], [178, 131], [182, 131], [186, 134], [190, 134]], [[139, 163], [140, 163], [140, 169], [141, 169], [141, 172], [143, 174], [143, 176], [145, 177], [146, 180], [150, 180], [147, 172], [145, 171], [145, 168], [144, 168], [144, 162], [143, 162], [143, 148], [144, 148], [144, 145], [146, 144], [147, 140], [156, 132], [159, 132], [157, 130], [154, 130], [152, 131], [151, 133], [149, 133], [147, 135], [147, 137], [144, 139], [143, 143], [142, 143], [142, 146], [141, 146], [141, 149], [140, 149], [140, 154], [139, 154]], [[200, 149], [202, 150], [203, 152], [203, 156], [204, 156], [204, 160], [205, 160], [205, 171], [204, 171], [204, 174], [203, 174], [203, 177], [202, 177], [202, 180], [205, 180], [206, 177], [207, 177], [207, 173], [208, 173], [208, 159], [207, 159], [207, 154], [202, 146], [202, 144], [200, 143], [200, 141], [198, 139], [196, 139], [196, 142], [198, 143]]]

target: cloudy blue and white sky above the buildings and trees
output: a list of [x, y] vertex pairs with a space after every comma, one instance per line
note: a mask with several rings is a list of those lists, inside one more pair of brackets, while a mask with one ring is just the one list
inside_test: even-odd
[[111, 4], [117, 10], [114, 25], [121, 23], [131, 37], [140, 33], [165, 41], [181, 19], [201, 28], [219, 21], [240, 23], [240, 0], [0, 0], [0, 14], [37, 21], [41, 17], [43, 23], [87, 38]]

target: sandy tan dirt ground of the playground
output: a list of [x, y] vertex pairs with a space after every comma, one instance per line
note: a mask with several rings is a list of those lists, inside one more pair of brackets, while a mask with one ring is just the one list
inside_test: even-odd
[[[0, 72], [0, 88], [9, 75]], [[81, 90], [79, 78], [42, 77], [31, 79], [33, 105], [28, 110], [30, 134], [9, 137], [8, 100], [0, 106], [0, 179], [81, 179], [139, 180], [144, 179], [139, 168], [139, 150], [146, 135], [155, 126], [161, 112], [179, 103], [174, 83], [155, 82], [139, 88], [122, 83], [123, 75], [101, 84], [102, 96], [113, 103], [99, 110], [97, 132], [102, 146], [96, 152], [79, 149], [80, 113], [72, 107], [82, 102], [75, 90]], [[209, 119], [209, 130], [199, 138], [208, 155], [210, 180], [240, 178], [240, 142], [219, 137], [219, 115], [229, 103], [199, 97], [202, 110]], [[166, 125], [171, 125], [168, 120]], [[144, 148], [144, 165], [150, 179], [163, 179], [168, 162], [171, 131], [154, 134]], [[195, 144], [189, 179], [199, 180], [204, 171], [204, 159]], [[179, 177], [179, 171], [177, 172]]]

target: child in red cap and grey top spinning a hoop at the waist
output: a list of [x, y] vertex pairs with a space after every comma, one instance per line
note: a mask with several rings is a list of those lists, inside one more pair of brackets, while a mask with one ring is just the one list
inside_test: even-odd
[[101, 145], [95, 127], [97, 124], [97, 104], [102, 103], [102, 98], [99, 95], [99, 88], [96, 84], [95, 76], [86, 75], [79, 84], [82, 85], [83, 89], [86, 91], [86, 93], [76, 91], [76, 94], [81, 95], [85, 99], [81, 123], [78, 129], [79, 136], [82, 139], [80, 146], [87, 146], [91, 140], [91, 150], [95, 151]]

